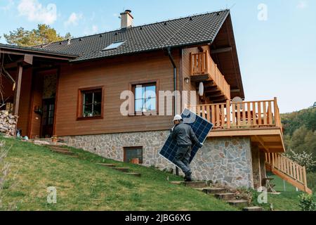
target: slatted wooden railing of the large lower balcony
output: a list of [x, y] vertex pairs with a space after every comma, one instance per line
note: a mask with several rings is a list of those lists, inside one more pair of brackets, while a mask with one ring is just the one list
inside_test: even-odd
[[190, 106], [197, 115], [213, 123], [213, 129], [256, 129], [278, 127], [282, 130], [277, 98], [266, 101], [248, 101]]

